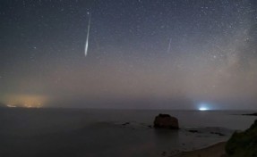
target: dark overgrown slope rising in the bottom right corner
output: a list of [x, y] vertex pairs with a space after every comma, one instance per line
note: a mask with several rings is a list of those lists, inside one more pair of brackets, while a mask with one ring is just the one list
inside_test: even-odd
[[235, 132], [231, 136], [226, 152], [232, 157], [257, 156], [257, 120], [244, 132]]

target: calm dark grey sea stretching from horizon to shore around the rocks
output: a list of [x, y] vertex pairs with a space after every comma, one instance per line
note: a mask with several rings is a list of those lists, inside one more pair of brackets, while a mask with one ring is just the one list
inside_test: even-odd
[[[150, 128], [158, 113], [175, 116], [182, 129]], [[251, 112], [3, 108], [0, 156], [161, 156], [227, 140], [256, 119], [242, 113]]]

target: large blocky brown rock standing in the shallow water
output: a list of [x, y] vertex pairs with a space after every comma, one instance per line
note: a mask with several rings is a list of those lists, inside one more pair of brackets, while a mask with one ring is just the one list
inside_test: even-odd
[[158, 114], [153, 122], [154, 128], [179, 129], [178, 120], [168, 114]]

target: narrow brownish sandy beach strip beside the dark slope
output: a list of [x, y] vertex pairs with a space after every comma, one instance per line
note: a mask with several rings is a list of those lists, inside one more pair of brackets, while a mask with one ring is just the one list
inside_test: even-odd
[[200, 150], [178, 153], [172, 157], [226, 157], [225, 145], [226, 142], [220, 142]]

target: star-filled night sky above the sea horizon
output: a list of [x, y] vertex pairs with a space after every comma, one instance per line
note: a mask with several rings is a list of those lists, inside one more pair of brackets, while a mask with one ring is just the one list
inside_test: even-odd
[[1, 0], [0, 21], [1, 103], [257, 109], [255, 0]]

